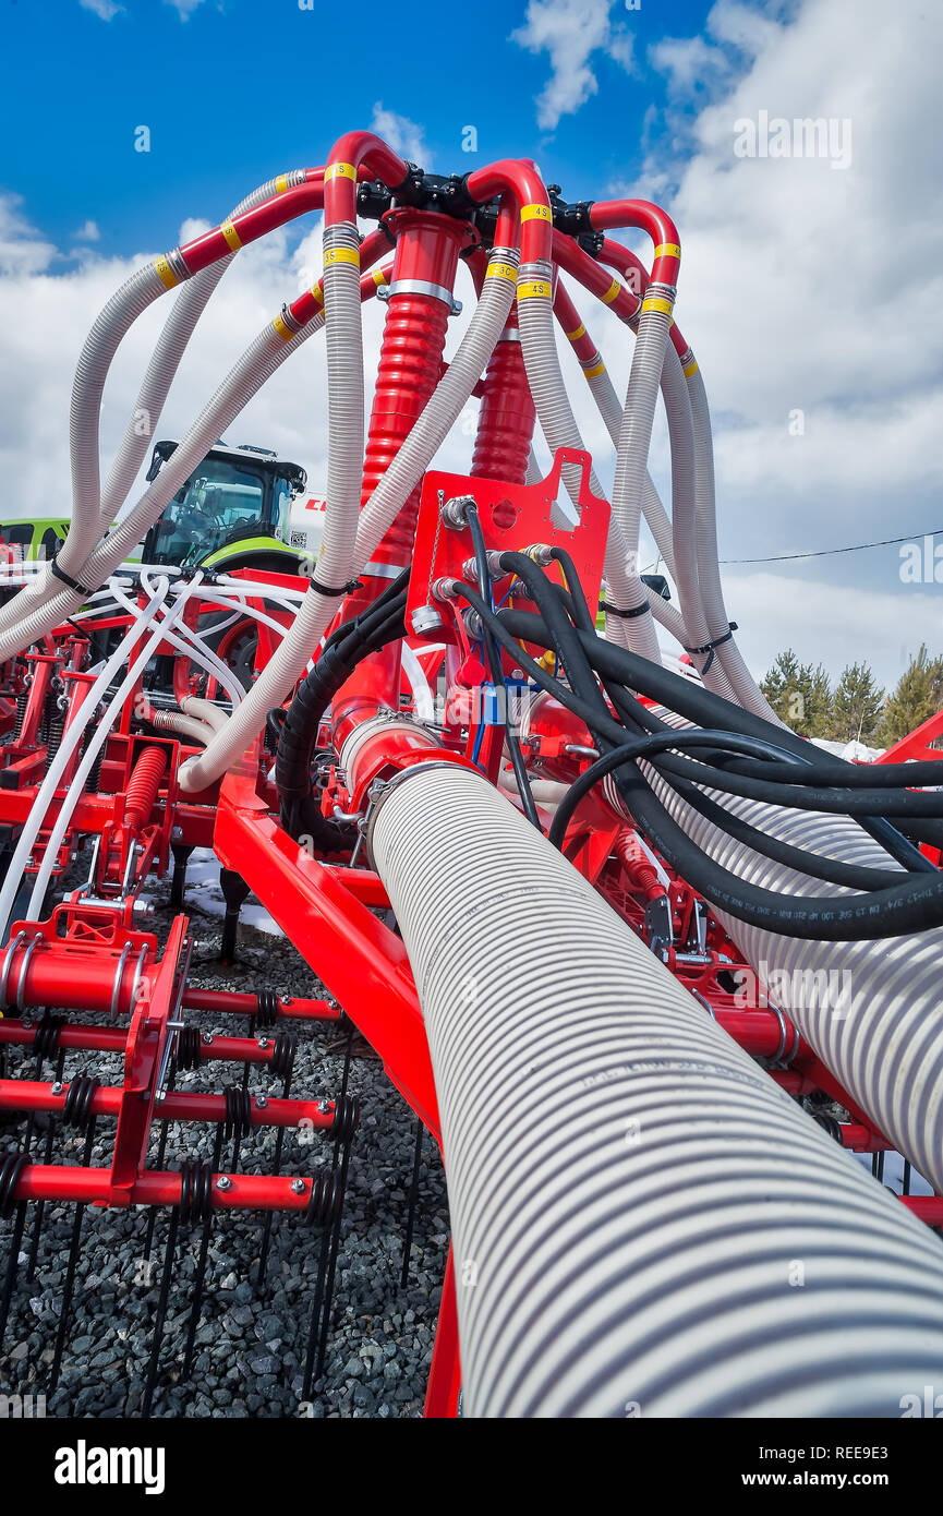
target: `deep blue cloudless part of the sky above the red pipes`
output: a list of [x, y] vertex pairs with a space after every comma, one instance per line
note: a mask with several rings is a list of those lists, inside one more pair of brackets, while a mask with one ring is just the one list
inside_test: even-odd
[[[708, 9], [706, 0], [612, 6], [611, 35], [631, 44], [631, 73], [596, 50], [597, 92], [540, 130], [534, 99], [549, 61], [509, 39], [523, 5], [484, 0], [462, 6], [459, 23], [449, 6], [415, 3], [396, 26], [394, 8], [376, 0], [343, 12], [320, 0], [314, 11], [297, 0], [202, 0], [186, 20], [170, 0], [121, 9], [20, 0], [5, 6], [5, 50], [42, 62], [41, 73], [5, 74], [0, 177], [56, 243], [91, 218], [102, 252], [130, 252], [165, 241], [180, 206], [221, 215], [271, 173], [323, 162], [335, 133], [367, 126], [379, 100], [421, 121], [440, 171], [526, 149], [565, 193], [597, 199], [638, 171], [643, 141], [664, 129], [652, 106], [666, 103], [667, 79], [649, 47], [699, 32]], [[338, 26], [341, 14], [356, 20]], [[150, 153], [133, 150], [141, 124]], [[461, 150], [465, 124], [478, 126], [476, 156]]]

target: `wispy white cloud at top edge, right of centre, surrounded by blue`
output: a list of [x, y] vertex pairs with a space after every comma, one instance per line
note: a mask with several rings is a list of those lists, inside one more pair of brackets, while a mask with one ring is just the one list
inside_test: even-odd
[[632, 36], [609, 21], [612, 0], [529, 0], [523, 26], [511, 41], [531, 53], [549, 53], [550, 79], [537, 97], [537, 124], [552, 132], [562, 115], [573, 115], [596, 94], [591, 68], [597, 52], [608, 52], [632, 68]]

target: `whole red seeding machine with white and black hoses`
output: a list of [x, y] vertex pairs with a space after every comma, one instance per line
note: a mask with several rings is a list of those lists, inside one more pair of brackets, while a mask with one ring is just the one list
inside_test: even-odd
[[[133, 415], [156, 424], [227, 265], [312, 212], [323, 277], [273, 312], [127, 503], [149, 446]], [[647, 262], [626, 232], [650, 240]], [[431, 174], [352, 132], [97, 317], [73, 390], [68, 535], [55, 559], [3, 570], [0, 609], [0, 1326], [44, 1207], [74, 1202], [50, 1375], [83, 1208], [170, 1216], [150, 1389], [174, 1249], [196, 1249], [199, 1320], [209, 1228], [235, 1208], [312, 1228], [312, 1383], [358, 1108], [344, 1081], [299, 1095], [291, 1079], [296, 1035], [334, 1022], [444, 1160], [429, 1416], [899, 1416], [943, 1383], [943, 761], [923, 746], [938, 723], [851, 764], [788, 731], [753, 682], [717, 565], [679, 268], [679, 232], [649, 202], [567, 200], [528, 159]], [[446, 362], [459, 274], [475, 308]], [[170, 314], [102, 479], [109, 365], [158, 300]], [[593, 337], [606, 312], [634, 344], [625, 397]], [[312, 572], [170, 549], [158, 523], [176, 532], [194, 479], [209, 508], [209, 449], [318, 334]], [[611, 438], [608, 499], [561, 353]], [[670, 502], [647, 473], [659, 396]], [[473, 399], [472, 456], [446, 471], [437, 453]], [[640, 576], [643, 517], [672, 599]], [[205, 634], [220, 614], [258, 626], [252, 669]], [[220, 860], [229, 946], [252, 891], [321, 999], [194, 984], [196, 846]], [[146, 885], [171, 861], [180, 910], [158, 940]], [[206, 1040], [206, 1016], [227, 1013], [249, 1032]], [[123, 1078], [70, 1075], [76, 1051], [86, 1070], [118, 1052]], [[202, 1060], [233, 1082], [177, 1087]], [[211, 1123], [212, 1161], [164, 1163], [174, 1122]], [[303, 1178], [240, 1164], [253, 1128], [302, 1123], [318, 1137]], [[77, 1151], [50, 1160], [68, 1128]]]

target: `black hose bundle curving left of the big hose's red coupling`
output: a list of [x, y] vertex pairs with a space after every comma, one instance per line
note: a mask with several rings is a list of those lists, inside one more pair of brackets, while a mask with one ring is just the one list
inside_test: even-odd
[[[294, 837], [311, 837], [323, 852], [338, 852], [353, 846], [356, 831], [349, 823], [338, 825], [321, 814], [311, 790], [311, 763], [318, 726], [338, 690], [356, 666], [388, 641], [405, 637], [405, 590], [376, 606], [364, 617], [359, 632], [352, 632], [331, 647], [324, 647], [311, 673], [299, 685], [282, 722], [274, 761], [274, 782], [279, 793], [279, 816], [285, 831]], [[374, 614], [376, 612], [376, 614]]]

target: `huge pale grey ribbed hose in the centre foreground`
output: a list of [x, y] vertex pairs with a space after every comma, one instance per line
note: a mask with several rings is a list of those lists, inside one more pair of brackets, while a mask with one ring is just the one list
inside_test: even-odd
[[484, 778], [371, 852], [429, 1035], [472, 1416], [899, 1416], [943, 1249]]

